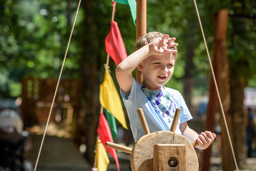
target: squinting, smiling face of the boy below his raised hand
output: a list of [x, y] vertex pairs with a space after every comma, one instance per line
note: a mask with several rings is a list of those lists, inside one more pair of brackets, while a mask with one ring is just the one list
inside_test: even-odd
[[161, 89], [172, 77], [175, 60], [173, 54], [151, 55], [138, 66], [143, 76], [143, 86]]

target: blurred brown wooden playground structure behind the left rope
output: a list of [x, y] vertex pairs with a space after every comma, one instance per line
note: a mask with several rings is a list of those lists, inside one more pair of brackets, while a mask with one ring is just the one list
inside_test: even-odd
[[[51, 106], [56, 79], [40, 79], [26, 76], [22, 80], [22, 106], [25, 127], [46, 123]], [[79, 116], [82, 101], [82, 81], [62, 80], [54, 103], [50, 121], [69, 125], [71, 134], [76, 136], [76, 118]]]

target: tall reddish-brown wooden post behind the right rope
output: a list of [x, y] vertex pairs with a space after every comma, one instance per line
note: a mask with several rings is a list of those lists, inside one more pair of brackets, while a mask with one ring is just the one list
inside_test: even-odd
[[[220, 97], [222, 106], [225, 113], [226, 123], [229, 128], [230, 138], [233, 141], [233, 128], [231, 127], [231, 94], [230, 94], [230, 82], [229, 82], [229, 62], [227, 60], [227, 43], [226, 32], [227, 23], [229, 19], [228, 10], [220, 10], [218, 13], [218, 22], [214, 51], [216, 52], [216, 58], [218, 60], [218, 87], [220, 91]], [[222, 116], [222, 115], [221, 115]], [[222, 149], [222, 170], [233, 171], [235, 169], [234, 158], [227, 137], [226, 127], [224, 119], [221, 117], [221, 149]]]

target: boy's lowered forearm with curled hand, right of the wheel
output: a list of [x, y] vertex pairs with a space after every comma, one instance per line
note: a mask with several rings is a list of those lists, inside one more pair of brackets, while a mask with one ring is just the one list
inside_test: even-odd
[[199, 149], [206, 149], [210, 144], [212, 144], [215, 139], [215, 133], [210, 131], [202, 132], [200, 135], [196, 133], [193, 129], [189, 128], [188, 123], [181, 123], [180, 125], [181, 134], [185, 136], [191, 143], [197, 140]]

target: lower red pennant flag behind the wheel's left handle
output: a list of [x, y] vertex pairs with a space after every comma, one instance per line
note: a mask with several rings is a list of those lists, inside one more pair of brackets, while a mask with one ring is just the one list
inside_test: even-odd
[[[105, 119], [105, 116], [103, 115], [103, 113], [100, 113], [100, 120], [99, 120], [99, 125], [97, 128], [97, 134], [99, 135], [100, 140], [104, 146], [107, 141], [113, 143], [113, 138], [111, 135], [110, 128], [108, 126], [108, 121]], [[117, 159], [116, 150], [109, 148], [107, 146], [105, 146], [105, 148], [111, 154], [111, 156], [115, 159], [116, 165], [117, 165], [117, 170], [119, 171], [119, 162]]]

